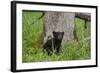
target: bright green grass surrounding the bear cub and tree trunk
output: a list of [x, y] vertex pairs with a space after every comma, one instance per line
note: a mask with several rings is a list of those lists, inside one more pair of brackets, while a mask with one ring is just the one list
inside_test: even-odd
[[46, 61], [64, 61], [64, 60], [87, 60], [91, 58], [90, 42], [84, 41], [86, 37], [91, 35], [90, 22], [87, 22], [87, 29], [84, 29], [84, 20], [75, 18], [75, 30], [79, 39], [69, 41], [63, 47], [59, 55], [52, 54], [48, 56], [42, 51], [42, 43], [44, 38], [42, 12], [26, 12], [22, 13], [23, 36], [22, 36], [22, 61], [27, 62], [46, 62]]

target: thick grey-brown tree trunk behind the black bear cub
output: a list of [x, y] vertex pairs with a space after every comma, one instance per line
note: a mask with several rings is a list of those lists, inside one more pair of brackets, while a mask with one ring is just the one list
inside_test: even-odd
[[74, 18], [75, 13], [71, 12], [45, 12], [44, 43], [47, 41], [48, 36], [53, 37], [53, 31], [64, 32], [62, 45], [67, 43], [67, 41], [72, 40], [74, 38]]

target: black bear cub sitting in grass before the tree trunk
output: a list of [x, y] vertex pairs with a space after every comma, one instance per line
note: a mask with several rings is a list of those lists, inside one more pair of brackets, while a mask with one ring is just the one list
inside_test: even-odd
[[64, 32], [53, 31], [53, 37], [48, 36], [47, 42], [43, 45], [44, 50], [51, 55], [53, 52], [58, 54], [61, 49], [61, 42]]

